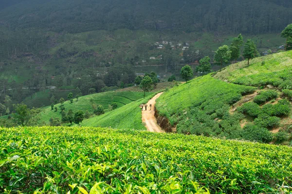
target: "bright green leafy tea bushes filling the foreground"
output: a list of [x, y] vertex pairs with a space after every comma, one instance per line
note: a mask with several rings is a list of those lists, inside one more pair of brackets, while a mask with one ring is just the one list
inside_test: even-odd
[[281, 187], [292, 184], [288, 146], [125, 129], [36, 127], [0, 128], [0, 149], [1, 193], [292, 192]]

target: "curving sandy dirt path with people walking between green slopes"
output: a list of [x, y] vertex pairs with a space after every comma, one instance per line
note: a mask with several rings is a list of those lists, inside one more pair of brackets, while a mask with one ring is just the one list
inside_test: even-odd
[[[156, 99], [158, 97], [160, 97], [162, 94], [163, 94], [163, 92], [157, 94], [155, 97], [150, 99], [147, 103], [147, 105], [148, 105], [147, 111], [145, 111], [145, 108], [142, 111], [142, 122], [146, 124], [146, 128], [148, 131], [164, 133], [164, 130], [162, 130], [161, 127], [159, 127], [157, 125], [157, 121], [156, 121], [156, 118], [154, 116], [154, 107], [156, 104]], [[152, 104], [151, 111], [150, 111], [150, 104]]]

